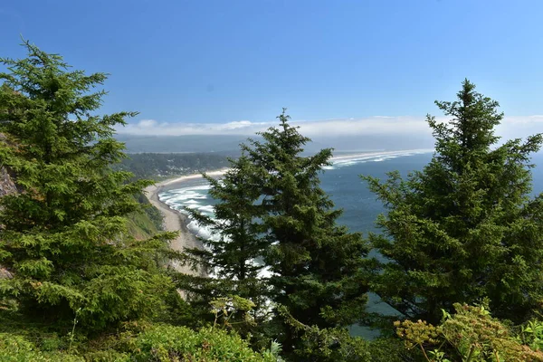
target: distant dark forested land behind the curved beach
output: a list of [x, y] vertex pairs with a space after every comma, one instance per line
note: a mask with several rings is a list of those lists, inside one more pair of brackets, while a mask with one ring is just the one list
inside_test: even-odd
[[228, 167], [232, 153], [137, 153], [130, 154], [114, 168], [129, 171], [136, 178], [161, 179]]

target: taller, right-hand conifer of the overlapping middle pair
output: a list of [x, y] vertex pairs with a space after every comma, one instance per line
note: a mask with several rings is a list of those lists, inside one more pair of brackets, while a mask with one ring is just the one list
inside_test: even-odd
[[[261, 178], [262, 225], [271, 271], [271, 299], [304, 325], [345, 327], [364, 315], [367, 301], [367, 243], [337, 224], [341, 214], [319, 186], [330, 149], [303, 155], [310, 138], [289, 125], [283, 110], [279, 128], [261, 133], [243, 150]], [[285, 324], [285, 350], [293, 330]]]

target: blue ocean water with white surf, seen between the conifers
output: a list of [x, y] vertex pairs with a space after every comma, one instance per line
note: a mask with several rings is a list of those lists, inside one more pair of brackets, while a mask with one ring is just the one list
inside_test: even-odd
[[[320, 176], [321, 187], [329, 194], [336, 207], [343, 209], [339, 224], [348, 226], [353, 232], [367, 234], [376, 231], [376, 215], [385, 211], [383, 205], [376, 200], [376, 195], [367, 189], [366, 182], [359, 175], [386, 178], [386, 173], [398, 170], [402, 176], [414, 170], [421, 170], [432, 158], [432, 151], [409, 150], [399, 152], [383, 152], [357, 157], [337, 157], [333, 166], [326, 167]], [[543, 192], [543, 153], [532, 158], [532, 163], [541, 165], [532, 169], [533, 195]], [[203, 179], [187, 180], [183, 184], [160, 193], [160, 200], [170, 207], [183, 212], [185, 207], [200, 210], [213, 215], [214, 200], [207, 195], [209, 186]], [[202, 237], [210, 233], [195, 222], [188, 224], [191, 231]], [[368, 310], [381, 313], [394, 313], [390, 307], [379, 302], [375, 295], [370, 295]], [[351, 332], [366, 338], [378, 334], [366, 328], [353, 326]]]

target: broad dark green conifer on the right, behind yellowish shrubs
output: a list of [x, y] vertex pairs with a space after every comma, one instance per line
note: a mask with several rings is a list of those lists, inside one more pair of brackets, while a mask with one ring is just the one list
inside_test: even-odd
[[496, 316], [523, 321], [543, 297], [543, 198], [529, 198], [542, 138], [498, 145], [498, 102], [467, 80], [457, 98], [435, 102], [450, 121], [427, 117], [436, 141], [423, 171], [363, 177], [387, 208], [371, 235], [386, 257], [373, 289], [414, 319], [435, 323], [455, 302], [488, 297]]

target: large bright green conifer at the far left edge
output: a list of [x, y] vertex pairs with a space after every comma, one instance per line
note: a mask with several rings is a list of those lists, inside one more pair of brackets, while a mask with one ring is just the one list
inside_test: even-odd
[[124, 216], [148, 181], [113, 172], [124, 154], [112, 138], [133, 112], [93, 114], [106, 75], [70, 71], [59, 55], [24, 43], [28, 58], [2, 59], [0, 167], [19, 195], [0, 199], [0, 263], [14, 275], [0, 296], [48, 321], [101, 329], [154, 313], [171, 281], [158, 269], [165, 233], [136, 242]]

